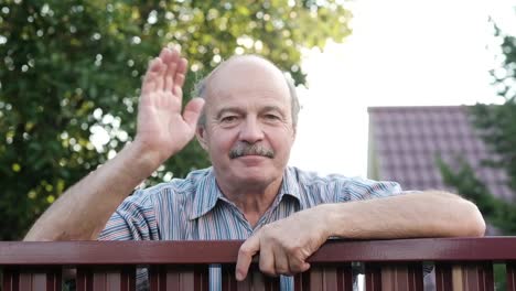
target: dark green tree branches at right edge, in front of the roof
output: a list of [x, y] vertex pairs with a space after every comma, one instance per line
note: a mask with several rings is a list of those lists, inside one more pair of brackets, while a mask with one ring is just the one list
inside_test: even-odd
[[[502, 66], [492, 72], [503, 105], [477, 104], [470, 110], [473, 127], [496, 160], [482, 161], [483, 166], [502, 169], [507, 173], [507, 186], [516, 193], [516, 37], [504, 34], [496, 25], [495, 37], [501, 40]], [[439, 166], [444, 182], [476, 203], [484, 218], [505, 235], [516, 234], [516, 202], [497, 198], [476, 176], [472, 166], [459, 159], [459, 169], [443, 161]], [[516, 197], [515, 197], [516, 198]]]

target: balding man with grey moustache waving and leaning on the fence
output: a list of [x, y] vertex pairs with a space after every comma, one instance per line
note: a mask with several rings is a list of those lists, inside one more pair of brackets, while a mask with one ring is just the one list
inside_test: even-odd
[[[476, 206], [459, 196], [404, 193], [391, 182], [323, 177], [287, 166], [299, 105], [272, 63], [232, 57], [181, 114], [185, 72], [186, 60], [173, 50], [150, 63], [135, 141], [62, 195], [26, 240], [247, 239], [236, 267], [243, 280], [258, 251], [265, 273], [305, 271], [307, 258], [330, 237], [484, 234]], [[213, 168], [127, 197], [194, 134]]]

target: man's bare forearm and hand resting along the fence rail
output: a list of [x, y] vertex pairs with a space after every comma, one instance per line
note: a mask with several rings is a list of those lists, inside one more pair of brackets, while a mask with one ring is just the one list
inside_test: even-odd
[[236, 278], [247, 276], [260, 252], [260, 270], [270, 276], [310, 268], [307, 259], [330, 237], [394, 239], [483, 236], [479, 208], [456, 195], [428, 191], [385, 198], [322, 204], [264, 226], [238, 252]]

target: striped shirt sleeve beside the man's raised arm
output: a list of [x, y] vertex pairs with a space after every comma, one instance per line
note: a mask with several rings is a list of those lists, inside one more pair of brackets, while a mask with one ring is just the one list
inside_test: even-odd
[[154, 208], [144, 191], [127, 197], [107, 222], [98, 240], [159, 240]]

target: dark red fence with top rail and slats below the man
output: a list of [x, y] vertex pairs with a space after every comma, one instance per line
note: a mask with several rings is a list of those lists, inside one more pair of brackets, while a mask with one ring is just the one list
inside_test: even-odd
[[[208, 290], [208, 266], [219, 263], [223, 290], [279, 290], [256, 263], [235, 280], [241, 242], [2, 241], [2, 289], [62, 290], [63, 270], [74, 269], [77, 291], [136, 290], [136, 269], [148, 268], [150, 290]], [[506, 290], [516, 291], [516, 237], [331, 240], [309, 261], [294, 290], [353, 290], [358, 265], [365, 290], [423, 290], [424, 262], [434, 265], [438, 291], [494, 290], [493, 263], [505, 266]]]

